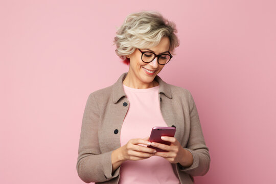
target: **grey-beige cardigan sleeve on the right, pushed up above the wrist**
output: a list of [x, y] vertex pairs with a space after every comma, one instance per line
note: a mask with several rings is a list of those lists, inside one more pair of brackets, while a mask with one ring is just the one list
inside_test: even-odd
[[210, 155], [209, 149], [205, 145], [199, 116], [194, 99], [189, 91], [189, 112], [190, 112], [190, 135], [187, 147], [193, 155], [193, 164], [184, 168], [179, 164], [180, 171], [186, 172], [192, 176], [203, 176], [209, 171]]

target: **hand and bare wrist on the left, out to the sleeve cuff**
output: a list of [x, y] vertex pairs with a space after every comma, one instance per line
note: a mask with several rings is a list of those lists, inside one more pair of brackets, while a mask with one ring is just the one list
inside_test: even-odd
[[142, 145], [150, 145], [149, 137], [145, 139], [131, 139], [124, 146], [111, 153], [112, 173], [126, 160], [146, 159], [156, 153], [155, 149]]

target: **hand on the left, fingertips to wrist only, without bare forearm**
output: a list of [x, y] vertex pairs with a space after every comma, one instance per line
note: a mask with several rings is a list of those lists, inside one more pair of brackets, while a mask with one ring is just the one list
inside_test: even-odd
[[129, 140], [127, 144], [121, 147], [122, 161], [141, 160], [141, 159], [146, 159], [153, 156], [154, 153], [156, 153], [155, 149], [142, 146], [142, 145], [146, 145], [146, 146], [151, 145], [151, 143], [148, 140], [149, 140], [149, 137], [146, 137], [144, 139]]

